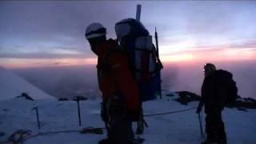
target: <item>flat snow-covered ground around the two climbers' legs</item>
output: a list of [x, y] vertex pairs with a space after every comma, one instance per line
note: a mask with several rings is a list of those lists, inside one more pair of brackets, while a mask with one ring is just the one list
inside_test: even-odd
[[[174, 97], [164, 97], [143, 103], [144, 114], [185, 110], [198, 105], [198, 102], [191, 102], [188, 106], [183, 106], [175, 102]], [[36, 101], [27, 101], [24, 98], [6, 99], [0, 102], [0, 131], [6, 133], [0, 137], [0, 142], [6, 141], [10, 134], [19, 129], [31, 130], [32, 134], [38, 134], [58, 130], [80, 130], [87, 126], [104, 127], [100, 118], [100, 102], [100, 98], [81, 102], [82, 126], [78, 126], [76, 102], [58, 102], [53, 99]], [[35, 111], [31, 110], [34, 106], [38, 106], [41, 130], [38, 130]], [[245, 112], [226, 108], [223, 111], [223, 119], [226, 124], [228, 143], [256, 143], [254, 135], [256, 110]], [[146, 122], [149, 127], [140, 136], [146, 139], [145, 144], [198, 144], [202, 141], [195, 110], [146, 117]], [[29, 138], [25, 143], [97, 144], [102, 138], [106, 138], [106, 131], [104, 134], [79, 134], [78, 132], [46, 134]]]

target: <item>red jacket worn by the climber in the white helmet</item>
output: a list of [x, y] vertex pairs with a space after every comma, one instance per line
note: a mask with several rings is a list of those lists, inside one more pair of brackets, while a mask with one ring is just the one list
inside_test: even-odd
[[128, 110], [139, 110], [138, 85], [130, 72], [128, 58], [117, 51], [109, 52], [115, 46], [115, 41], [110, 39], [97, 49], [98, 82], [103, 102], [113, 94], [122, 94], [124, 96], [123, 103]]

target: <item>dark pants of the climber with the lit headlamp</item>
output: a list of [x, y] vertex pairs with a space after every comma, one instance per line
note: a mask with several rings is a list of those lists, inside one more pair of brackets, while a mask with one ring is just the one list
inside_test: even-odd
[[207, 141], [226, 144], [226, 132], [222, 122], [222, 110], [211, 110], [206, 113]]

